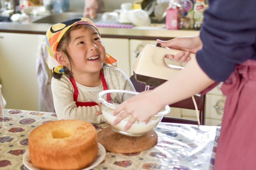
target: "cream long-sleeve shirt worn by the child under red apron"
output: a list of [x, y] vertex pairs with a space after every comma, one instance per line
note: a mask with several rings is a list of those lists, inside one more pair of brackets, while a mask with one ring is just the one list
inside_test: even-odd
[[[108, 89], [130, 90], [135, 91], [130, 79], [122, 70], [104, 65], [104, 78]], [[78, 88], [78, 102], [96, 102], [100, 103], [97, 98], [99, 92], [103, 91], [103, 85], [97, 87], [88, 87], [76, 82]], [[103, 115], [96, 115], [100, 106], [76, 106], [73, 98], [74, 88], [68, 76], [62, 75], [60, 80], [52, 78], [52, 95], [54, 108], [58, 119], [78, 119], [90, 123], [102, 123], [105, 121]], [[111, 100], [121, 102], [124, 96], [111, 94]]]

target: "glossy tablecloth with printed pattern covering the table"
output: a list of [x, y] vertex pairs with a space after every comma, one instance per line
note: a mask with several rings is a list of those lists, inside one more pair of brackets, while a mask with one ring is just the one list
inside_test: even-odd
[[[58, 120], [56, 113], [4, 109], [0, 118], [0, 170], [27, 170], [22, 155], [35, 127]], [[108, 127], [94, 125], [96, 131]], [[142, 152], [107, 152], [93, 170], [212, 170], [220, 127], [160, 123], [154, 128], [158, 143]]]

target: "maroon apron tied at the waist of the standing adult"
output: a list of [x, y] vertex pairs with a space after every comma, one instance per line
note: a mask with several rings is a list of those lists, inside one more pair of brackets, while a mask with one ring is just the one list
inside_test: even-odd
[[255, 170], [256, 61], [238, 64], [221, 90], [227, 98], [214, 170]]

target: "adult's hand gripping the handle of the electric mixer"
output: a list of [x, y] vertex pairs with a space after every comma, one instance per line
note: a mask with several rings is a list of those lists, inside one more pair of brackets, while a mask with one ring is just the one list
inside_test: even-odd
[[192, 36], [192, 37], [177, 37], [174, 39], [171, 39], [169, 41], [161, 41], [156, 40], [158, 43], [160, 43], [163, 47], [169, 47], [173, 49], [179, 49], [186, 51], [185, 53], [177, 53], [176, 55], [166, 55], [165, 57], [167, 59], [186, 63], [190, 61], [190, 53], [196, 54], [198, 50], [202, 49], [202, 41], [200, 39], [199, 35]]

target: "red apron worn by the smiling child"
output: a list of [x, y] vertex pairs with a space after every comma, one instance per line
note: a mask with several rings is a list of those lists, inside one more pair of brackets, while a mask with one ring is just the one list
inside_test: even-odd
[[[102, 72], [100, 71], [100, 78], [101, 78], [101, 81], [102, 81], [102, 85], [103, 85], [103, 90], [108, 90], [108, 85], [106, 83], [106, 80], [102, 74]], [[96, 106], [98, 105], [96, 102], [77, 102], [77, 98], [78, 98], [78, 89], [77, 89], [77, 86], [76, 86], [76, 82], [74, 80], [73, 77], [69, 77], [73, 87], [74, 87], [74, 101], [76, 102], [76, 106]], [[107, 94], [107, 100], [108, 102], [111, 101], [111, 98], [110, 98], [110, 93]]]

